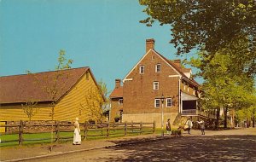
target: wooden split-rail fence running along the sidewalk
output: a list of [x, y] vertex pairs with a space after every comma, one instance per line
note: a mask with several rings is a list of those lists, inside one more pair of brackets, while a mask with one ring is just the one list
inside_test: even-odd
[[[88, 122], [79, 123], [82, 140], [111, 136], [127, 136], [132, 134], [150, 134], [155, 132], [155, 123], [100, 123], [90, 124]], [[0, 133], [0, 143], [16, 142], [23, 145], [24, 142], [42, 142], [51, 141], [60, 142], [61, 140], [73, 139], [73, 124], [63, 124], [61, 121], [55, 121], [53, 124], [26, 124], [26, 121], [20, 120], [20, 124], [0, 124], [0, 128], [12, 128], [12, 130]], [[38, 129], [38, 127], [41, 128]], [[45, 127], [47, 127], [45, 129]], [[29, 130], [33, 129], [33, 130]], [[42, 130], [43, 129], [43, 130]], [[49, 133], [54, 133], [53, 138]], [[47, 135], [43, 135], [47, 134]], [[41, 137], [38, 137], [40, 135]], [[4, 136], [16, 136], [12, 139], [4, 139]], [[2, 138], [2, 139], [1, 139]]]

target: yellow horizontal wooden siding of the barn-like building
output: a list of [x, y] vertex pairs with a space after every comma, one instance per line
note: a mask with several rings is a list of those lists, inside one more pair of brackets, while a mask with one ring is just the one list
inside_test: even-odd
[[[78, 117], [80, 122], [88, 120], [84, 109], [80, 103], [84, 100], [84, 95], [90, 91], [90, 88], [96, 88], [96, 83], [90, 72], [85, 73], [79, 82], [75, 84], [72, 90], [63, 95], [61, 100], [55, 106], [54, 120], [73, 121]], [[49, 104], [38, 105], [38, 113], [32, 117], [32, 120], [51, 120], [49, 114], [51, 107]], [[1, 106], [0, 107], [0, 121], [17, 121], [28, 120], [26, 113], [24, 113], [21, 105], [17, 106]]]

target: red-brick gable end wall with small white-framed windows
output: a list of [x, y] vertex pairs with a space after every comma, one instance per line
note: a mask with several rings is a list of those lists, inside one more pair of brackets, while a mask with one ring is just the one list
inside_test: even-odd
[[[155, 72], [157, 64], [161, 65], [160, 72]], [[142, 65], [145, 72], [140, 74], [139, 67]], [[173, 106], [168, 108], [165, 101], [165, 112], [177, 113], [179, 78], [170, 78], [169, 75], [177, 75], [177, 72], [151, 50], [126, 77], [132, 80], [124, 83], [124, 114], [160, 113], [160, 108], [154, 107], [154, 99], [162, 94], [173, 101]], [[153, 90], [154, 81], [159, 82], [159, 90]]]

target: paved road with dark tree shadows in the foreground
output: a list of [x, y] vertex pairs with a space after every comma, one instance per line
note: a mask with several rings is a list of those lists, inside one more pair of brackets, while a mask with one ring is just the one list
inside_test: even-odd
[[256, 129], [198, 133], [37, 161], [256, 161]]

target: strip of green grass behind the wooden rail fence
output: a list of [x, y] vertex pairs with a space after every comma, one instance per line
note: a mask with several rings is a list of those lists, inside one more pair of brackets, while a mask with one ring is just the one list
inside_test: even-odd
[[[149, 134], [151, 130], [152, 133], [152, 129], [143, 129], [143, 131], [147, 131], [147, 132], [143, 132], [142, 134]], [[83, 131], [81, 130], [81, 135], [83, 136]], [[160, 129], [156, 129], [155, 130], [155, 134], [160, 134], [161, 130]], [[109, 131], [109, 138], [114, 138], [114, 137], [121, 137], [125, 135], [125, 130], [110, 130]], [[140, 135], [139, 130], [131, 130], [128, 129], [127, 130], [127, 136], [138, 136]], [[54, 133], [54, 137], [55, 137], [55, 133]], [[61, 138], [68, 138], [68, 139], [60, 139], [59, 142], [70, 142], [73, 141], [73, 131], [71, 132], [60, 132], [60, 137]], [[49, 139], [45, 139], [45, 138], [49, 138]], [[23, 134], [23, 139], [24, 142], [22, 143], [22, 145], [35, 145], [35, 144], [47, 144], [50, 143], [51, 140], [51, 133], [37, 133], [37, 134]], [[107, 131], [106, 130], [91, 130], [88, 131], [87, 133], [87, 139], [86, 140], [99, 140], [99, 139], [106, 139], [107, 138]], [[19, 135], [18, 134], [14, 134], [14, 135], [2, 135], [0, 136], [0, 139], [2, 141], [2, 143], [0, 143], [0, 147], [14, 147], [14, 146], [18, 146], [19, 142], [8, 142], [8, 141], [13, 141], [13, 140], [18, 140], [19, 139]], [[40, 140], [39, 139], [45, 139], [45, 140]], [[26, 141], [28, 140], [28, 141]]]

